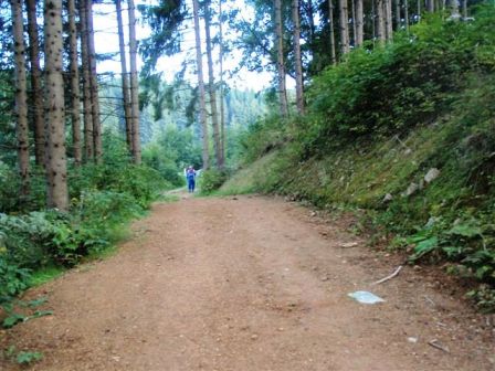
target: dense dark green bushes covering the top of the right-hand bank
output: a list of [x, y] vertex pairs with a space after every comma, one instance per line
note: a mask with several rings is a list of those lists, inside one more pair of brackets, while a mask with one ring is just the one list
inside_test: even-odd
[[334, 136], [404, 132], [439, 117], [464, 87], [465, 74], [493, 71], [495, 34], [487, 23], [494, 11], [475, 17], [473, 23], [432, 17], [386, 47], [358, 49], [316, 77], [308, 91], [310, 117], [299, 132], [305, 152], [325, 150]]

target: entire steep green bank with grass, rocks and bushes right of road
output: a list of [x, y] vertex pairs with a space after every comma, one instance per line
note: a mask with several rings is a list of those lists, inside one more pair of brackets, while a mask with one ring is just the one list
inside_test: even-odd
[[[495, 10], [440, 17], [315, 78], [308, 113], [244, 138], [222, 192], [277, 192], [360, 208], [411, 259], [449, 261], [495, 308]], [[275, 135], [276, 134], [276, 135]]]

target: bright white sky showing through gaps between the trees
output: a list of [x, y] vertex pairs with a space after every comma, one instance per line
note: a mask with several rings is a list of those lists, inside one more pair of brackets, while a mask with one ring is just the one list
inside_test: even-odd
[[[155, 0], [138, 0], [136, 4], [139, 3], [152, 3]], [[243, 6], [241, 1], [235, 1], [236, 6]], [[123, 4], [123, 8], [126, 10], [126, 4]], [[191, 6], [192, 7], [192, 6]], [[225, 7], [228, 7], [228, 3], [225, 3]], [[249, 8], [246, 6], [243, 6], [243, 13], [245, 13], [244, 17], [249, 17]], [[94, 14], [94, 28], [95, 28], [95, 47], [96, 53], [112, 53], [112, 52], [118, 52], [118, 35], [117, 35], [117, 17], [115, 13], [115, 7], [109, 4], [98, 4], [94, 6], [95, 14]], [[124, 11], [124, 29], [127, 39], [127, 30], [128, 30], [128, 21], [127, 21], [127, 12]], [[147, 38], [150, 34], [149, 28], [140, 22], [140, 14], [138, 11], [136, 11], [136, 18], [138, 20], [137, 24], [137, 39], [143, 40]], [[224, 29], [228, 29], [229, 25], [224, 24]], [[183, 33], [183, 43], [182, 43], [182, 50], [183, 52], [171, 56], [171, 57], [161, 57], [157, 64], [157, 71], [162, 72], [165, 80], [168, 82], [171, 82], [175, 74], [179, 72], [182, 68], [182, 63], [186, 59], [196, 61], [196, 50], [194, 50], [194, 32], [193, 32], [193, 24], [192, 20], [189, 24], [186, 24], [185, 33]], [[215, 32], [212, 30], [212, 32]], [[227, 32], [233, 32], [233, 30], [225, 30]], [[204, 34], [201, 36], [202, 41], [204, 41]], [[202, 47], [203, 54], [206, 51], [206, 47], [203, 45]], [[242, 52], [239, 50], [232, 51], [230, 55], [227, 55], [224, 57], [224, 70], [225, 71], [233, 71], [241, 61]], [[218, 59], [218, 47], [213, 51], [213, 59]], [[204, 71], [204, 78], [208, 78], [207, 74], [207, 66], [206, 66], [206, 55], [203, 55], [203, 71]], [[143, 61], [140, 60], [140, 56], [138, 56], [138, 68], [143, 65]], [[218, 66], [217, 66], [218, 68]], [[196, 67], [191, 66], [188, 68], [188, 73], [186, 74], [186, 78], [191, 82], [191, 84], [197, 84], [197, 75], [194, 72]], [[97, 72], [98, 73], [105, 73], [105, 72], [114, 72], [114, 73], [120, 73], [120, 62], [118, 56], [116, 57], [116, 61], [105, 61], [99, 62], [97, 65]], [[235, 74], [232, 77], [229, 77], [229, 74], [225, 73], [225, 81], [231, 87], [238, 87], [241, 89], [253, 89], [255, 92], [262, 91], [263, 88], [266, 88], [270, 86], [270, 82], [273, 78], [273, 76], [270, 73], [255, 73], [255, 72], [249, 72], [247, 70], [243, 68], [238, 74]], [[217, 80], [218, 80], [218, 72], [217, 72]], [[288, 85], [291, 85], [291, 82], [288, 82]]]

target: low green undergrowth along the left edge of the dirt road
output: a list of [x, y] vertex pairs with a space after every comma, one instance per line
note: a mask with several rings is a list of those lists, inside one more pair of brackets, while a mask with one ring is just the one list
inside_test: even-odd
[[66, 213], [40, 204], [31, 204], [38, 211], [9, 212], [9, 204], [2, 204], [0, 306], [4, 314], [28, 287], [86, 257], [107, 254], [126, 235], [124, 224], [143, 215], [170, 188], [157, 171], [123, 159], [72, 169], [69, 183], [71, 210]]

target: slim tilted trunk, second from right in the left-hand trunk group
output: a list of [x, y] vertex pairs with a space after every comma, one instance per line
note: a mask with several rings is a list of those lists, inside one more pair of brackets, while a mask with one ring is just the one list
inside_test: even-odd
[[126, 142], [130, 153], [134, 153], [133, 149], [133, 120], [130, 110], [130, 97], [129, 97], [129, 75], [127, 74], [127, 59], [126, 46], [124, 42], [124, 22], [122, 20], [122, 0], [116, 0], [117, 11], [117, 28], [118, 28], [118, 50], [120, 53], [120, 70], [122, 70], [122, 96], [124, 104], [124, 120], [126, 123]]

